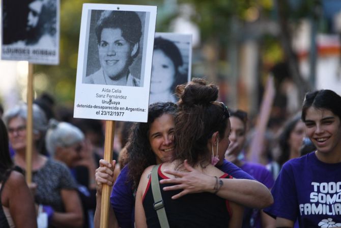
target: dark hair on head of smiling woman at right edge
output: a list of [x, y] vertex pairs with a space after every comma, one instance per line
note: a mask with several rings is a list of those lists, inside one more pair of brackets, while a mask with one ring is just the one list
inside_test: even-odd
[[301, 119], [305, 122], [307, 109], [327, 109], [338, 116], [341, 120], [341, 96], [329, 89], [317, 90], [305, 94]]

